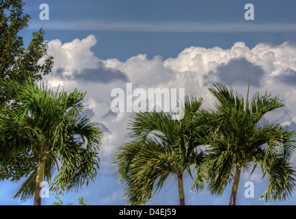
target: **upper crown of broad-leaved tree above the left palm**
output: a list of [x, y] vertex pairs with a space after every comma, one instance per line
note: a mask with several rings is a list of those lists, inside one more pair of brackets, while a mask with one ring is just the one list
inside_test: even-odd
[[[28, 27], [29, 14], [23, 14], [23, 1], [3, 0], [0, 8], [0, 79], [38, 80], [50, 73], [53, 57], [47, 55], [44, 30], [33, 32], [27, 48], [22, 29]], [[3, 90], [1, 90], [3, 92]], [[3, 96], [2, 96], [3, 97]]]

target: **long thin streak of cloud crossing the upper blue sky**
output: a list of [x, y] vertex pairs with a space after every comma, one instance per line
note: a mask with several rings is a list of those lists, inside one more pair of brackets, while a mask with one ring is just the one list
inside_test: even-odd
[[81, 31], [142, 31], [142, 32], [295, 32], [295, 23], [201, 23], [197, 21], [141, 22], [141, 21], [33, 21], [29, 29]]

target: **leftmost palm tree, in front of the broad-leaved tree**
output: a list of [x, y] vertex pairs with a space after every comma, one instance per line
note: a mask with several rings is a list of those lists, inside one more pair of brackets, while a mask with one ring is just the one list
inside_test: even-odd
[[78, 190], [93, 180], [103, 133], [90, 118], [81, 116], [85, 94], [77, 89], [53, 92], [33, 82], [8, 81], [5, 90], [15, 103], [6, 105], [0, 117], [5, 142], [0, 149], [1, 160], [27, 154], [37, 164], [15, 198], [24, 201], [35, 193], [34, 205], [41, 205], [40, 183], [51, 181], [55, 170], [50, 190], [57, 194]]

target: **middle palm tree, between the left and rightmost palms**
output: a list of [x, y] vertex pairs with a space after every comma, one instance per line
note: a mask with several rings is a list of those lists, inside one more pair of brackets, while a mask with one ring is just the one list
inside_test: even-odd
[[[199, 166], [203, 160], [203, 153], [198, 150], [202, 131], [195, 122], [201, 104], [202, 99], [187, 97], [182, 120], [174, 120], [172, 114], [155, 110], [132, 114], [128, 125], [133, 139], [120, 146], [113, 157], [116, 176], [125, 185], [127, 203], [150, 202], [154, 184], [156, 191], [160, 190], [172, 174], [178, 181], [180, 205], [185, 205], [183, 172], [187, 170], [191, 175], [191, 165]], [[196, 182], [200, 190], [204, 184], [200, 180]]]

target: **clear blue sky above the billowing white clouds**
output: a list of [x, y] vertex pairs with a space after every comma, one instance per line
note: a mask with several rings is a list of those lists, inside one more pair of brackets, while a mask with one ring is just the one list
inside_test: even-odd
[[[49, 21], [39, 19], [41, 11], [39, 5], [45, 1], [27, 1], [26, 9], [32, 16], [31, 22], [34, 23], [32, 25], [35, 27], [36, 24], [46, 29], [48, 40], [58, 36], [62, 42], [68, 42], [72, 38], [84, 38], [94, 34], [98, 43], [92, 49], [100, 58], [116, 57], [124, 60], [139, 53], [146, 53], [148, 57], [154, 55], [172, 57], [178, 55], [185, 47], [191, 46], [229, 48], [234, 42], [243, 41], [247, 46], [254, 47], [258, 42], [279, 44], [296, 40], [296, 17], [293, 12], [293, 8], [296, 8], [295, 1], [283, 3], [258, 1], [254, 5], [254, 21], [245, 21], [244, 18], [246, 11], [244, 6], [246, 3], [252, 3], [250, 1], [88, 0], [87, 2], [49, 1], [47, 2], [50, 7]], [[188, 27], [187, 31], [182, 31], [180, 28], [184, 25], [177, 25], [182, 22]], [[105, 25], [97, 27], [98, 23]], [[121, 23], [127, 23], [127, 27], [123, 27]], [[232, 25], [236, 23], [239, 24], [239, 31], [232, 31], [234, 29]], [[278, 29], [283, 23], [294, 27], [288, 28], [289, 31], [279, 32]], [[76, 24], [79, 27], [70, 28], [71, 25], [68, 24]], [[113, 27], [112, 24], [118, 25]], [[147, 28], [144, 24], [150, 24], [152, 27]], [[157, 29], [159, 24], [170, 28], [167, 28], [168, 30], [162, 28], [159, 31]], [[199, 28], [198, 24], [214, 27], [208, 33]], [[272, 31], [254, 31], [248, 26], [261, 24], [271, 25]], [[135, 31], [129, 31], [135, 25], [137, 25]], [[219, 25], [226, 25], [229, 27], [228, 31], [219, 29]]]

